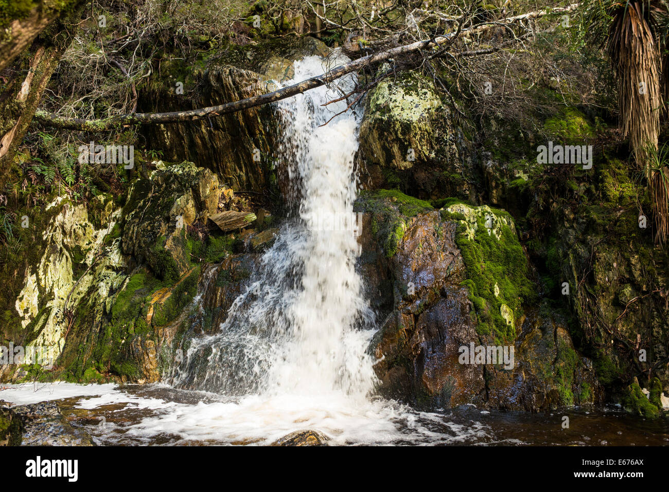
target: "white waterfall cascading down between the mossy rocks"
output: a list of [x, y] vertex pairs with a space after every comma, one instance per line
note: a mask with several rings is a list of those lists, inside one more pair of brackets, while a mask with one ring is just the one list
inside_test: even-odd
[[[286, 85], [322, 74], [324, 60], [307, 57], [294, 68]], [[228, 396], [359, 399], [373, 389], [367, 347], [375, 320], [355, 269], [360, 118], [342, 98], [355, 82], [347, 76], [277, 104], [278, 157], [295, 186], [294, 213], [220, 332], [192, 340], [175, 386]]]

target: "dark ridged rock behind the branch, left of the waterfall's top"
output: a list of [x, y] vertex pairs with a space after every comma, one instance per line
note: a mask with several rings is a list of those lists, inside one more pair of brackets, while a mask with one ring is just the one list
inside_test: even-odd
[[[272, 92], [293, 76], [293, 61], [306, 55], [326, 56], [328, 47], [311, 37], [284, 38], [230, 47], [207, 54], [196, 64], [173, 61], [155, 74], [142, 110], [167, 112], [218, 106]], [[205, 67], [205, 68], [201, 68]], [[177, 82], [183, 94], [177, 94]], [[188, 160], [225, 176], [235, 191], [266, 193], [277, 181], [272, 149], [278, 118], [272, 106], [260, 106], [216, 118], [145, 128], [152, 148], [170, 161]]]

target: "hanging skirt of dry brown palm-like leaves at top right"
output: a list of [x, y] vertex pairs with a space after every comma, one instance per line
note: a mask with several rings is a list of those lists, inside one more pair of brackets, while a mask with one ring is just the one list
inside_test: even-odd
[[[669, 96], [669, 16], [665, 1], [592, 0], [584, 19], [604, 44], [618, 82], [620, 127], [646, 171], [656, 241], [669, 239], [669, 168], [658, 156], [660, 113]], [[605, 34], [604, 34], [605, 32]], [[664, 98], [663, 98], [664, 96]]]

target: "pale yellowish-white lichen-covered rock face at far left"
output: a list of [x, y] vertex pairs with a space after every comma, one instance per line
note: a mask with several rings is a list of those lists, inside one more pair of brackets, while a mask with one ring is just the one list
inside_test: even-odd
[[[85, 303], [89, 290], [104, 296], [118, 287], [123, 275], [118, 272], [125, 266], [118, 251], [118, 243], [106, 241], [120, 217], [120, 210], [112, 212], [111, 197], [102, 197], [101, 225], [96, 226], [94, 208], [84, 204], [73, 204], [58, 197], [46, 207], [50, 221], [42, 233], [43, 242], [35, 245], [41, 259], [35, 265], [27, 265], [23, 289], [19, 293], [15, 310], [21, 326], [25, 328], [23, 338], [30, 346], [43, 350], [43, 366], [52, 366], [64, 346], [68, 325], [72, 322], [72, 310]], [[104, 223], [104, 225], [102, 224]], [[39, 354], [37, 354], [39, 355]], [[35, 358], [25, 358], [23, 364], [33, 364]], [[13, 366], [17, 368], [19, 364]], [[5, 373], [5, 378], [19, 374]]]

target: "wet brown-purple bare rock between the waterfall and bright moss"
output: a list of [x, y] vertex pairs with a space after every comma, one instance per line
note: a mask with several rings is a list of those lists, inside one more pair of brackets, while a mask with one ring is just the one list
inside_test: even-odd
[[458, 363], [458, 348], [477, 340], [455, 224], [437, 211], [407, 227], [391, 259], [395, 310], [381, 330], [375, 371], [385, 392], [416, 404], [450, 408], [480, 402], [480, 366]]

